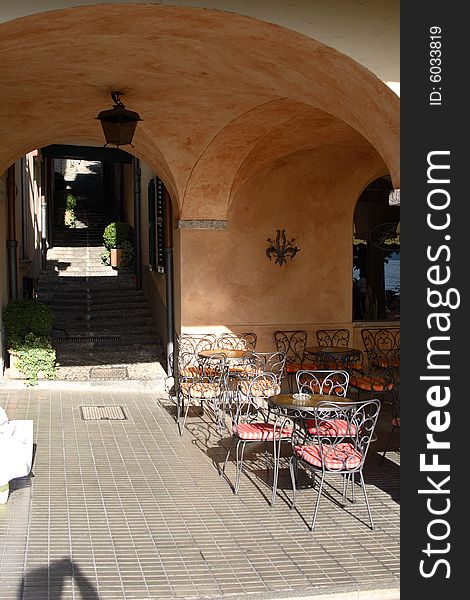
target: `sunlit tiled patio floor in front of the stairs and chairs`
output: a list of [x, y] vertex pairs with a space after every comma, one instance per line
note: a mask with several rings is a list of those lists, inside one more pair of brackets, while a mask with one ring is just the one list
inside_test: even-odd
[[[124, 421], [82, 420], [80, 406], [122, 406]], [[284, 466], [270, 488], [262, 448], [247, 455], [239, 496], [216, 466], [228, 433], [194, 413], [183, 437], [174, 406], [151, 392], [0, 389], [10, 419], [33, 419], [30, 478], [0, 506], [0, 598], [8, 600], [236, 599], [383, 590], [398, 598], [399, 454], [368, 457], [347, 510], [302, 490], [290, 510]], [[233, 461], [227, 468], [234, 478]], [[336, 478], [332, 483], [336, 482]], [[369, 592], [370, 594], [370, 592]], [[387, 596], [388, 594], [388, 596]], [[379, 597], [375, 595], [367, 597]]]

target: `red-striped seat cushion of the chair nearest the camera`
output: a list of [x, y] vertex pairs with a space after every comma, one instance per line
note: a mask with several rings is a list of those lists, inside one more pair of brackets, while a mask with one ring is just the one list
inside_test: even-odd
[[362, 461], [362, 454], [352, 444], [343, 442], [334, 446], [329, 444], [313, 444], [312, 446], [295, 446], [295, 455], [305, 462], [329, 471], [348, 471], [357, 468]]

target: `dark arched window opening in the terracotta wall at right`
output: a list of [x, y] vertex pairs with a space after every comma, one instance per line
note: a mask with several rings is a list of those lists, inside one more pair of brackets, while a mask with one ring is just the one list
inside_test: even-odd
[[400, 319], [400, 207], [390, 206], [390, 177], [360, 195], [353, 228], [353, 320]]

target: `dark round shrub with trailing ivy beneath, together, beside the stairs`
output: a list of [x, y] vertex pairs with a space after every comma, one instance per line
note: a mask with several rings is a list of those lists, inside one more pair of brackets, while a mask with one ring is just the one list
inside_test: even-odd
[[2, 312], [8, 336], [10, 376], [35, 385], [39, 377], [55, 378], [56, 352], [51, 333], [54, 315], [40, 300], [14, 300]]

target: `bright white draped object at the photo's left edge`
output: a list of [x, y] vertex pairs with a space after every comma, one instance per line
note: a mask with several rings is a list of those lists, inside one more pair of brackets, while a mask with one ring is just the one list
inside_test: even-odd
[[0, 487], [31, 471], [33, 421], [8, 420], [0, 407]]

